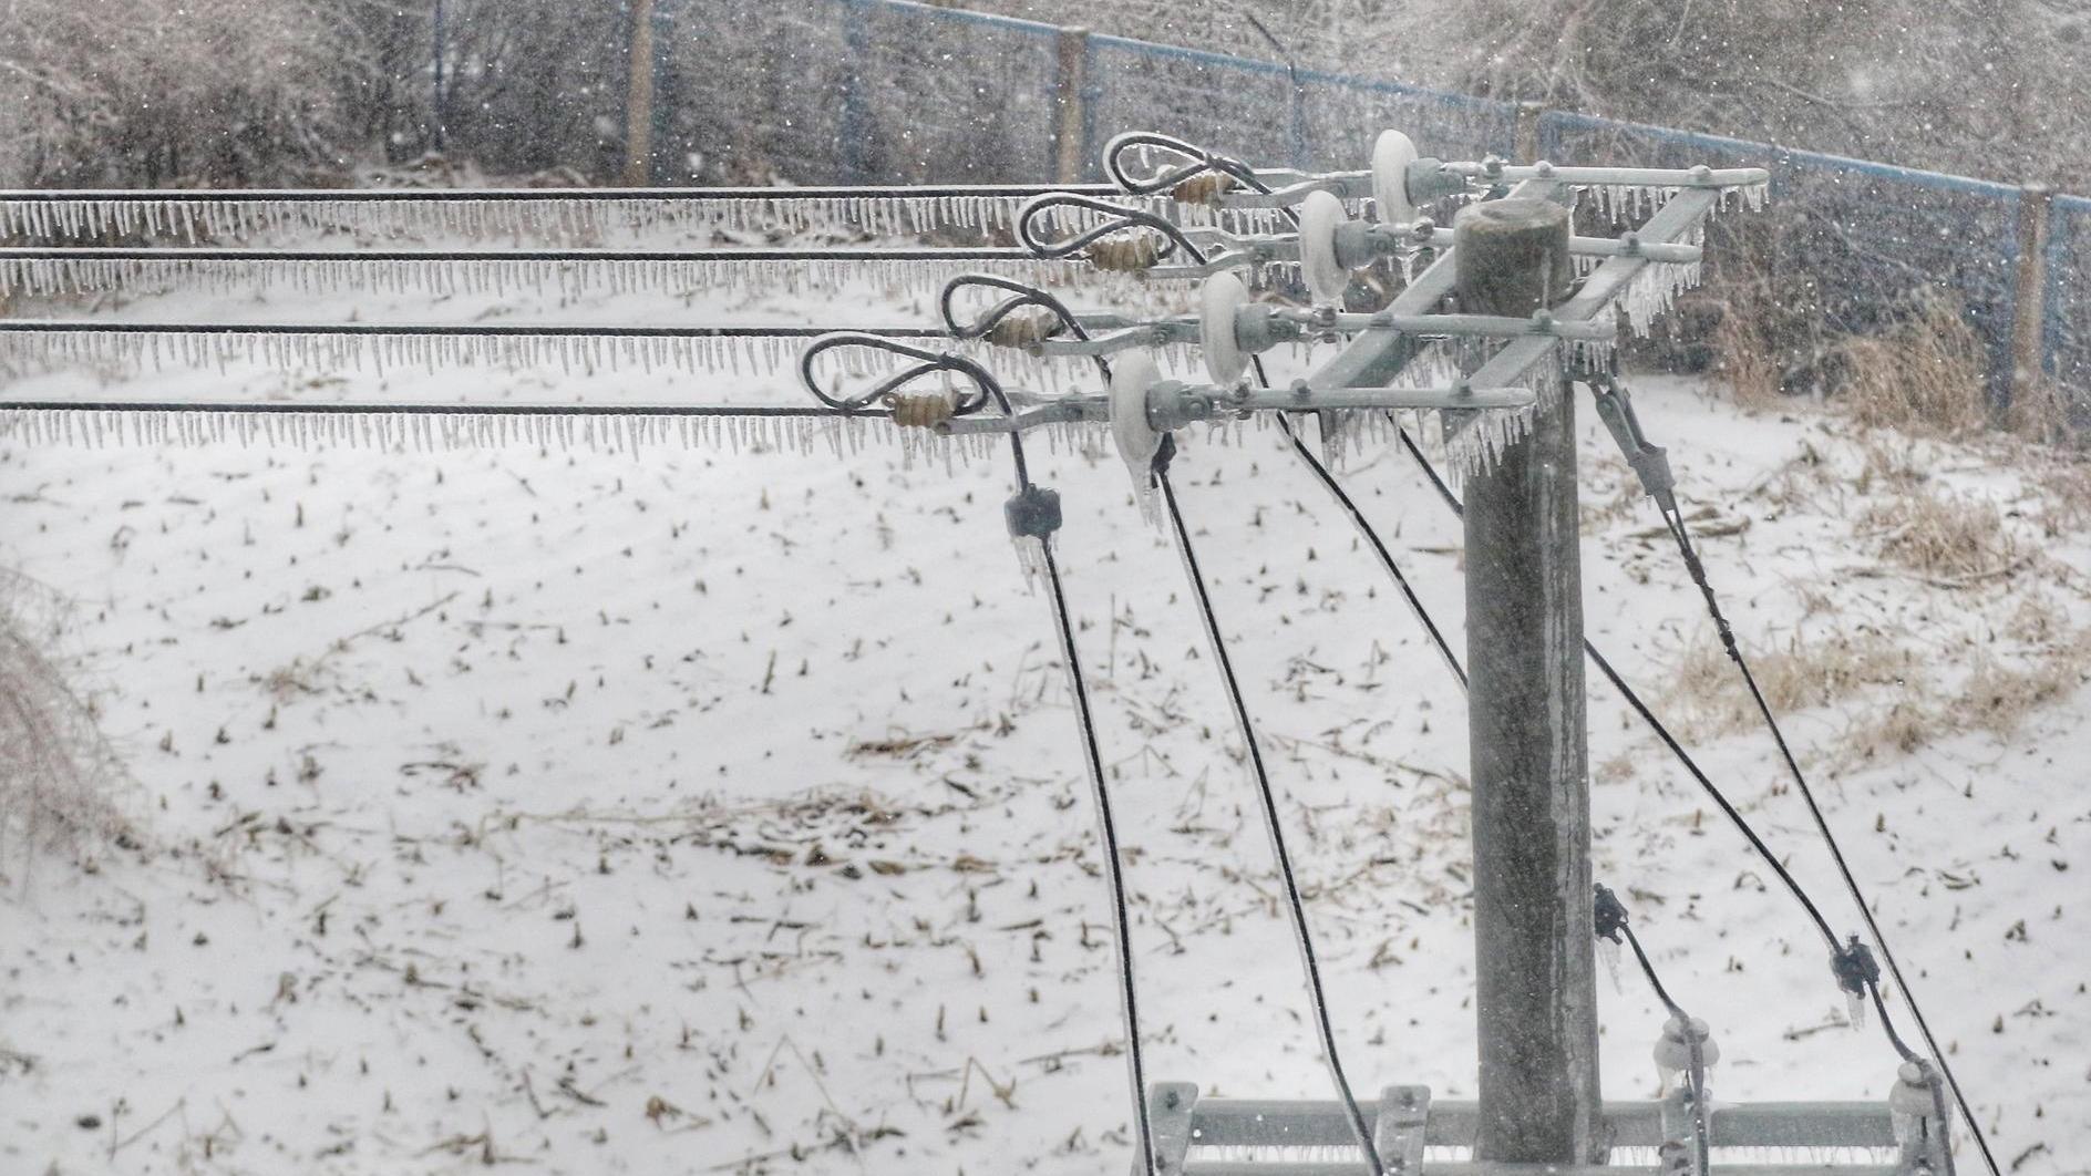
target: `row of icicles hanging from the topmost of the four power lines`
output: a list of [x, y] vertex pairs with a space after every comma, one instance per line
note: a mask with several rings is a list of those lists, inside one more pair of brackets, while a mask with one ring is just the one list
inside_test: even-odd
[[362, 190], [0, 190], [0, 236], [29, 241], [253, 241], [280, 232], [358, 236], [594, 239], [611, 232], [922, 234], [1008, 230], [1031, 197], [1077, 190], [1163, 211], [1163, 197], [1108, 184], [899, 188], [362, 188]]

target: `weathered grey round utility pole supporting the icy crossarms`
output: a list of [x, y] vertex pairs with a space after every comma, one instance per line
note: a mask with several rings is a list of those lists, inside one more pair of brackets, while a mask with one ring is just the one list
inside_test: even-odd
[[[1453, 232], [1464, 312], [1524, 318], [1562, 301], [1575, 280], [1562, 205], [1478, 203]], [[1474, 1159], [1602, 1159], [1575, 475], [1575, 402], [1564, 389], [1466, 485]]]

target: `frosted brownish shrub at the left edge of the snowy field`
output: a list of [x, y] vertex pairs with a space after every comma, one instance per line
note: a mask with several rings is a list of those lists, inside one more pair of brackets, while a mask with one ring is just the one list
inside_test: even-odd
[[88, 854], [132, 837], [117, 806], [123, 768], [94, 716], [44, 653], [54, 596], [0, 573], [0, 868], [8, 843]]

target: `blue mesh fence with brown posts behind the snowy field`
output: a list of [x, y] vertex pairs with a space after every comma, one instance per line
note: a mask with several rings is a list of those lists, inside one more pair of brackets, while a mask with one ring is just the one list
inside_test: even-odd
[[[738, 61], [705, 56], [726, 25], [765, 29]], [[1064, 84], [1064, 29], [914, 0], [696, 4], [682, 44], [713, 134], [809, 182], [1048, 180]], [[1192, 48], [1087, 36], [1081, 151], [1119, 130], [1158, 130], [1257, 163], [1363, 167], [1380, 128], [1426, 155], [1514, 155], [1518, 111], [1447, 94]], [[2007, 184], [1792, 151], [1566, 111], [1539, 117], [1539, 155], [1646, 165], [1759, 165], [1773, 174], [1777, 257], [1805, 274], [1807, 310], [1863, 331], [1911, 293], [1959, 299], [2009, 387], [2020, 193]], [[2091, 402], [2091, 201], [2051, 205], [2041, 312], [2043, 370]]]

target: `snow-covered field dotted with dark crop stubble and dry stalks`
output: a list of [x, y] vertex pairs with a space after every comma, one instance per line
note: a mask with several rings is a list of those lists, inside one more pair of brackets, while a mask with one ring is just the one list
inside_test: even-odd
[[[914, 297], [585, 308], [144, 297], [109, 314], [924, 320]], [[2020, 454], [1639, 381], [1750, 649], [2005, 1166], [2091, 1145], [2087, 519]], [[48, 372], [10, 395], [638, 395], [788, 381]], [[1859, 929], [1698, 598], [1583, 419], [1589, 628]], [[1177, 557], [1112, 454], [1037, 454], [1135, 887], [1150, 1078], [1324, 1096]], [[1186, 511], [1284, 789], [1347, 1067], [1474, 1092], [1455, 682], [1307, 471], [1192, 437]], [[1460, 529], [1353, 494], [1441, 624]], [[2051, 481], [2051, 479], [2049, 479]], [[0, 442], [0, 565], [73, 601], [144, 852], [4, 845], [0, 1172], [1123, 1172], [1094, 814], [1004, 460]], [[1999, 508], [1920, 571], [1924, 496]], [[1989, 515], [1982, 515], [1989, 517]], [[1798, 653], [1796, 653], [1798, 651]], [[1708, 672], [1715, 668], [1715, 672]], [[1972, 678], [1970, 678], [1972, 676]], [[1598, 877], [1713, 1021], [1721, 1099], [1876, 1099], [1819, 940], [1593, 678]], [[1612, 1096], [1658, 1007], [1600, 981]], [[1907, 1027], [1907, 1019], [1905, 1019]], [[1963, 1149], [1963, 1161], [1972, 1153]]]

